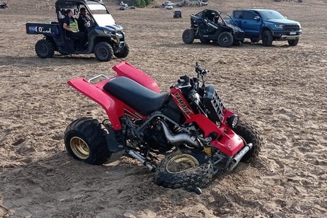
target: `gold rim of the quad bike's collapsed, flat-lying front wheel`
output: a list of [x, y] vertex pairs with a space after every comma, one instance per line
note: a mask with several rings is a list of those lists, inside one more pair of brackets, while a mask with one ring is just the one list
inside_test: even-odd
[[168, 173], [182, 173], [199, 166], [198, 160], [192, 155], [177, 155], [170, 159], [166, 165]]

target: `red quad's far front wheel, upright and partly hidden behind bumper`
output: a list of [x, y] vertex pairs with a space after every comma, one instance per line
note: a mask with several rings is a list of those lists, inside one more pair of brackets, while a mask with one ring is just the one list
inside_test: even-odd
[[262, 143], [259, 132], [255, 130], [255, 127], [250, 125], [250, 123], [245, 122], [244, 120], [239, 120], [237, 127], [235, 127], [233, 131], [241, 138], [243, 138], [245, 143], [253, 144], [251, 150], [249, 150], [248, 153], [242, 157], [241, 162], [251, 163], [255, 161], [260, 153]]

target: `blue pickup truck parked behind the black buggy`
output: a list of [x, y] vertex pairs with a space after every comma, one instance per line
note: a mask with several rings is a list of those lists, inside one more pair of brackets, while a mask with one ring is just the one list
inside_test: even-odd
[[232, 18], [245, 38], [251, 42], [262, 40], [264, 46], [271, 46], [274, 40], [287, 40], [289, 45], [296, 46], [302, 34], [299, 22], [288, 20], [276, 10], [234, 10]]

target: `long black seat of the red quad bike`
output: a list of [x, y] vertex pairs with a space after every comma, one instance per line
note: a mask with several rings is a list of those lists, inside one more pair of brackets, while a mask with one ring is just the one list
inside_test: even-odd
[[104, 91], [143, 115], [159, 110], [169, 96], [169, 93], [159, 94], [151, 91], [127, 77], [111, 79], [104, 85]]

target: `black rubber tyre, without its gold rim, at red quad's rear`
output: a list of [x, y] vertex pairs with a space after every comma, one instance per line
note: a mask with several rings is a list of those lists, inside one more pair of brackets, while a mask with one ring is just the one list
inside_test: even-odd
[[[72, 135], [81, 136], [88, 147], [90, 148], [90, 157], [88, 159], [79, 159], [70, 148], [70, 139]], [[98, 120], [93, 118], [82, 117], [74, 120], [65, 130], [65, 148], [67, 153], [74, 159], [81, 160], [87, 164], [101, 165], [104, 164], [110, 157], [111, 153], [106, 145], [106, 132], [102, 129]]]

